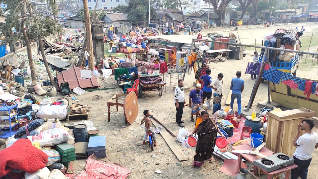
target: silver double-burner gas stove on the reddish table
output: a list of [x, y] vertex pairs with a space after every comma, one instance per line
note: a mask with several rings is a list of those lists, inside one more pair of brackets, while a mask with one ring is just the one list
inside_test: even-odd
[[253, 164], [266, 172], [271, 172], [294, 164], [294, 159], [286, 154], [277, 153], [266, 158], [255, 160]]

